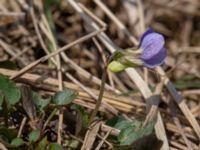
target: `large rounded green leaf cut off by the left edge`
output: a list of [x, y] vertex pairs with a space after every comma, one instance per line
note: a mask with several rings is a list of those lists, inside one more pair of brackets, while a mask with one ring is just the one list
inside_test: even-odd
[[0, 75], [0, 93], [3, 94], [8, 105], [15, 105], [21, 97], [15, 83], [4, 75]]

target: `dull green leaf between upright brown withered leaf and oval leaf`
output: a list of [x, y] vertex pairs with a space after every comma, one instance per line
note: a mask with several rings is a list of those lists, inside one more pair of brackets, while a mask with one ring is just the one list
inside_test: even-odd
[[33, 92], [32, 93], [33, 96], [33, 103], [36, 106], [37, 110], [39, 110], [40, 112], [42, 110], [45, 109], [46, 106], [48, 106], [48, 104], [50, 103], [51, 99], [47, 98], [47, 99], [43, 99], [38, 93]]

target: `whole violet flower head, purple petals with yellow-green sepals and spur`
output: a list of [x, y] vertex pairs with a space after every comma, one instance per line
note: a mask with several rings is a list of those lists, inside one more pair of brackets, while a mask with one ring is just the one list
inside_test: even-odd
[[116, 51], [108, 68], [112, 72], [137, 66], [155, 68], [163, 64], [166, 58], [167, 52], [164, 44], [165, 40], [161, 34], [148, 29], [143, 33], [138, 48]]

